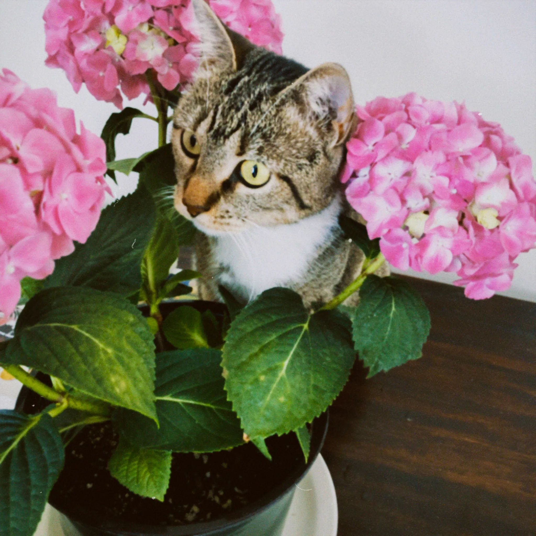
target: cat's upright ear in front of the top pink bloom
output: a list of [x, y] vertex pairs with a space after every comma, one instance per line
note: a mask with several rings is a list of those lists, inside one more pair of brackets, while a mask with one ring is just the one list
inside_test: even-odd
[[199, 39], [194, 46], [199, 56], [194, 77], [206, 78], [239, 69], [244, 56], [255, 45], [227, 28], [204, 0], [191, 0], [189, 9], [192, 11], [188, 30]]

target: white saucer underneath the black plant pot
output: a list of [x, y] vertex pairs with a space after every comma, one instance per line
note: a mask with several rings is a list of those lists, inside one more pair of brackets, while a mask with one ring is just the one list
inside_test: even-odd
[[[0, 379], [0, 410], [12, 410], [21, 384]], [[281, 536], [337, 536], [337, 496], [327, 465], [318, 455], [296, 492]], [[34, 536], [64, 536], [56, 510], [49, 504]]]

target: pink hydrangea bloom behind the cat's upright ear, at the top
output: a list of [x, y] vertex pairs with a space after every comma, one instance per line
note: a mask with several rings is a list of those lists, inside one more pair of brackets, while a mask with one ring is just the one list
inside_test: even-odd
[[[271, 0], [210, 0], [231, 29], [280, 53], [280, 17]], [[167, 90], [186, 83], [197, 67], [192, 54], [190, 0], [50, 0], [44, 12], [47, 65], [65, 70], [78, 93], [122, 107], [150, 95], [151, 70]]]

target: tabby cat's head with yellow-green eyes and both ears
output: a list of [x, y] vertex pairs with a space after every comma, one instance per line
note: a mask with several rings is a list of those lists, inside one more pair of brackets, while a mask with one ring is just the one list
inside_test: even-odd
[[203, 0], [192, 7], [201, 59], [173, 119], [177, 211], [217, 235], [323, 210], [355, 125], [346, 71], [308, 70], [231, 32]]

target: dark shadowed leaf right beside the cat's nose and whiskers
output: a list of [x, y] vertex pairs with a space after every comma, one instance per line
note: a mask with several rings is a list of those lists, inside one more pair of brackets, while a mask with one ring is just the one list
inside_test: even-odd
[[177, 244], [191, 244], [196, 234], [196, 228], [191, 221], [179, 214], [173, 206], [172, 193], [177, 184], [177, 178], [175, 176], [175, 160], [171, 144], [159, 147], [145, 157], [139, 180], [152, 193], [160, 212], [165, 215], [175, 228]]

